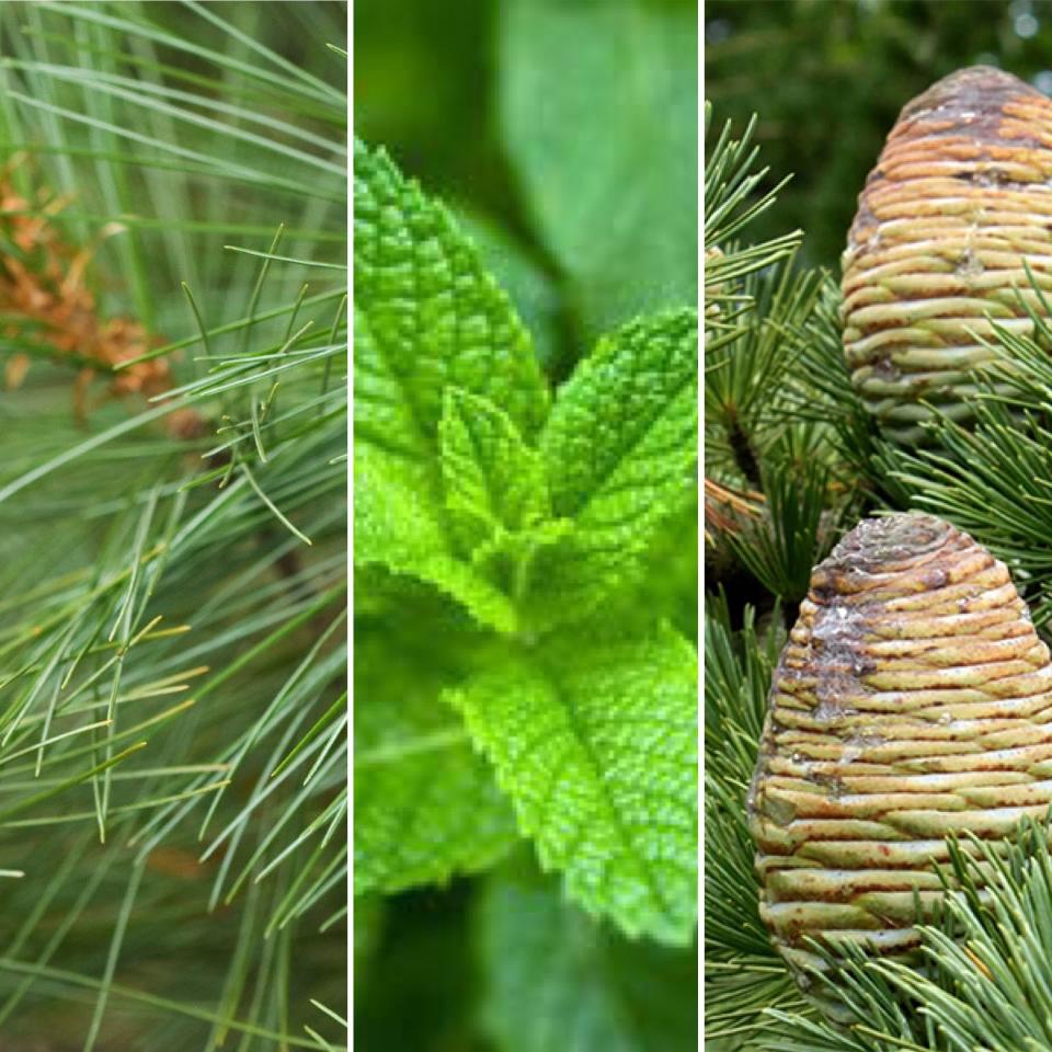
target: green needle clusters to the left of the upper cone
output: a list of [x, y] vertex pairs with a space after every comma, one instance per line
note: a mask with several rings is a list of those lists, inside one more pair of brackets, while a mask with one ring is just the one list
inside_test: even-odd
[[758, 190], [754, 126], [736, 138], [724, 125], [706, 153], [706, 554], [713, 572], [739, 568], [793, 604], [857, 487], [835, 419], [814, 410], [827, 397], [811, 367], [823, 276], [794, 265], [799, 232], [740, 240], [778, 190]]

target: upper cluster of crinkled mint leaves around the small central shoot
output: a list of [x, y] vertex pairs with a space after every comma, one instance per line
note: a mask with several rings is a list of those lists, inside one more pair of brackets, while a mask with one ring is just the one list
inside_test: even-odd
[[[547, 396], [510, 302], [386, 158], [359, 147], [356, 178], [356, 561], [427, 581], [503, 632], [580, 619], [690, 499], [694, 313], [599, 341], [533, 449]], [[381, 237], [376, 217], [400, 208], [412, 222]]]

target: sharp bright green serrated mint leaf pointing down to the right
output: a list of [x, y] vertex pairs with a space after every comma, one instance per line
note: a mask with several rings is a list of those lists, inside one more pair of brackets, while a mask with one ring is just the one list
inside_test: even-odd
[[550, 640], [450, 700], [570, 895], [629, 935], [697, 917], [697, 656], [671, 629]]

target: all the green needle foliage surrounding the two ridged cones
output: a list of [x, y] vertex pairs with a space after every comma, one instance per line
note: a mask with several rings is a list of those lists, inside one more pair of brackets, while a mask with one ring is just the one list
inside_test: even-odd
[[[741, 162], [756, 172], [750, 152]], [[742, 214], [773, 207], [766, 183], [740, 182]], [[721, 192], [733, 199], [725, 183], [709, 181], [707, 215], [720, 215]], [[714, 1049], [757, 1052], [1048, 1048], [1043, 827], [998, 845], [951, 839], [945, 908], [922, 928], [919, 969], [856, 951], [811, 977], [854, 1017], [834, 1025], [802, 999], [759, 919], [745, 796], [787, 616], [811, 567], [861, 514], [947, 518], [1009, 564], [1034, 621], [1048, 622], [1052, 305], [1034, 283], [1022, 300], [1031, 330], [995, 325], [998, 364], [976, 378], [973, 424], [936, 415], [904, 448], [881, 436], [851, 387], [835, 279], [779, 260], [769, 242], [748, 248], [747, 225], [736, 236], [746, 248], [710, 250], [706, 276], [707, 1036]], [[728, 266], [732, 252], [752, 273], [711, 277], [712, 261]]]

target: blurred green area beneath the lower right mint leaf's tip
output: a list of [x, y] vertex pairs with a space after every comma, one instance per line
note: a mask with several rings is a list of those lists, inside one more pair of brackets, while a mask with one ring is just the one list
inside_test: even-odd
[[695, 954], [617, 939], [524, 880], [491, 880], [477, 924], [482, 1025], [504, 1052], [697, 1048]]

